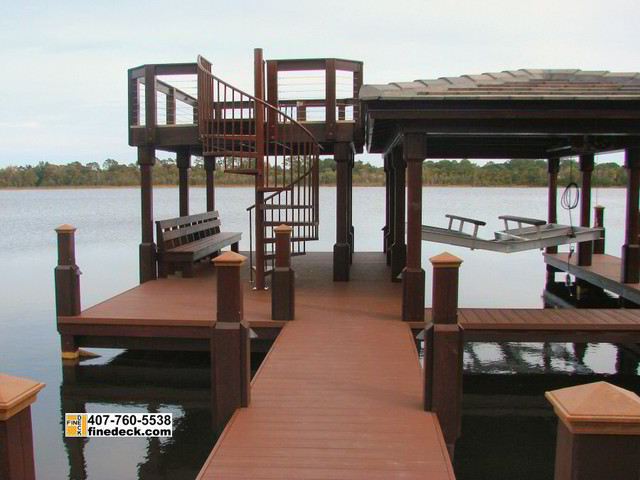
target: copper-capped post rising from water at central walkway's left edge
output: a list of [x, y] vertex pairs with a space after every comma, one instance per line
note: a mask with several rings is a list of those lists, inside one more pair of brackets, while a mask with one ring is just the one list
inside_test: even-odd
[[217, 316], [211, 336], [211, 390], [221, 433], [237, 408], [250, 402], [249, 324], [244, 319], [241, 270], [247, 258], [224, 252], [212, 260], [217, 276]]

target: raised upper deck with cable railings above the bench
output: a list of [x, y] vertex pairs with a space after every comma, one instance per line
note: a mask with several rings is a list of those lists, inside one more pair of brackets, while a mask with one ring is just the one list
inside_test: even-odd
[[[261, 63], [261, 65], [260, 65]], [[262, 119], [265, 136], [289, 138], [294, 133], [285, 116], [302, 124], [318, 141], [323, 154], [333, 154], [335, 142], [353, 142], [361, 152], [364, 128], [358, 92], [363, 64], [335, 58], [267, 60], [256, 64], [263, 78], [262, 92], [255, 95], [284, 114], [277, 122]], [[262, 72], [260, 72], [262, 68]], [[265, 73], [266, 72], [266, 73]], [[159, 150], [187, 148], [202, 155], [200, 123], [203, 122], [203, 77], [198, 63], [147, 64], [129, 70], [129, 145], [154, 145]], [[218, 133], [237, 134], [258, 121], [255, 102], [248, 94], [216, 84], [210, 94], [213, 111], [222, 122]], [[149, 86], [153, 86], [150, 88]], [[239, 120], [246, 120], [242, 125]]]

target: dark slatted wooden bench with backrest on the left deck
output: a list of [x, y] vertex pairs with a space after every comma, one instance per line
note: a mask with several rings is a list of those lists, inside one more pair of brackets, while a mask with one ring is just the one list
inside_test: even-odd
[[156, 232], [159, 277], [176, 270], [182, 271], [183, 277], [192, 277], [195, 262], [214, 257], [229, 245], [237, 252], [242, 236], [240, 232], [221, 232], [218, 212], [159, 220]]

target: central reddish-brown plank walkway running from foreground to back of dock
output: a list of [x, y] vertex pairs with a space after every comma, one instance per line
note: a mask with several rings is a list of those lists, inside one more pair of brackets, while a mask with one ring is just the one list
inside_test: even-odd
[[437, 420], [422, 410], [400, 286], [389, 282], [384, 256], [356, 258], [348, 284], [301, 282], [296, 320], [198, 478], [454, 478]]

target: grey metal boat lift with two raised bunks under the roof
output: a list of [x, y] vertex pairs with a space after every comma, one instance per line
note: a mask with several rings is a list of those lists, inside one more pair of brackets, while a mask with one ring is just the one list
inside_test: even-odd
[[[597, 240], [601, 234], [599, 228], [559, 225], [535, 218], [502, 215], [498, 218], [504, 221], [504, 230], [495, 232], [495, 238], [487, 240], [478, 237], [478, 229], [485, 226], [486, 222], [450, 214], [445, 217], [449, 219], [448, 228], [423, 225], [422, 240], [467, 247], [471, 250], [514, 253]], [[456, 228], [454, 222], [459, 222], [455, 225]], [[509, 222], [516, 223], [517, 227], [510, 228]], [[472, 233], [463, 231], [465, 224], [473, 225]]]

